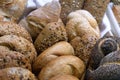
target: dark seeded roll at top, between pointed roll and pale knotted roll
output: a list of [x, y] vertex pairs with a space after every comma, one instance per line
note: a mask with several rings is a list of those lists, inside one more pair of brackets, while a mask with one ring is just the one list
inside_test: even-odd
[[61, 14], [60, 17], [64, 24], [66, 24], [67, 16], [70, 12], [82, 8], [84, 0], [60, 0]]

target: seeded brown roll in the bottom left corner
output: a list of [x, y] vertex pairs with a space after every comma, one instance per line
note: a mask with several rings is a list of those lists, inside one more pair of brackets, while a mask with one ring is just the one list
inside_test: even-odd
[[29, 70], [21, 67], [5, 68], [0, 70], [0, 80], [37, 80]]

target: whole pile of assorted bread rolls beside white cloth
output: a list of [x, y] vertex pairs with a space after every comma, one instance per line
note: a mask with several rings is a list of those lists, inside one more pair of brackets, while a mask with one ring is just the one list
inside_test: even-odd
[[100, 39], [98, 27], [109, 0], [84, 2], [53, 0], [22, 17], [27, 0], [1, 0], [0, 80], [119, 80], [119, 38]]

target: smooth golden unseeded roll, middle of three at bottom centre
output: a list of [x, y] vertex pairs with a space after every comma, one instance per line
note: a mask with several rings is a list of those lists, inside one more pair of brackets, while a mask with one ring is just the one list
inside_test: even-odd
[[73, 75], [81, 78], [85, 71], [85, 65], [76, 56], [61, 56], [48, 63], [40, 72], [39, 80], [49, 80], [56, 75]]

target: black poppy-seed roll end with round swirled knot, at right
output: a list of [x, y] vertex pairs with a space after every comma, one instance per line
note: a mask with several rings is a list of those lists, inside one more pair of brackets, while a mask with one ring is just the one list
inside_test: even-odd
[[100, 38], [94, 48], [92, 49], [92, 54], [90, 56], [89, 69], [96, 69], [102, 58], [104, 58], [107, 54], [119, 50], [120, 46], [120, 38], [119, 37], [103, 37]]

